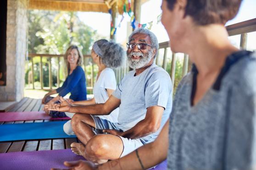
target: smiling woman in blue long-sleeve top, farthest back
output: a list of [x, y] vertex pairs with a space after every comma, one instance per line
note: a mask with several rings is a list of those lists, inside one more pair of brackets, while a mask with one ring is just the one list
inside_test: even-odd
[[[64, 81], [63, 85], [56, 90], [52, 90], [47, 93], [43, 100], [43, 104], [52, 104], [59, 102], [60, 96], [64, 97], [67, 93], [71, 93], [70, 99], [73, 101], [83, 101], [87, 100], [86, 95], [86, 80], [85, 74], [80, 66], [83, 64], [83, 55], [77, 46], [70, 46], [64, 55], [67, 62], [68, 76]], [[50, 97], [50, 95], [58, 93], [56, 97]], [[44, 109], [47, 114], [52, 117], [65, 117], [64, 112], [54, 112]]]

